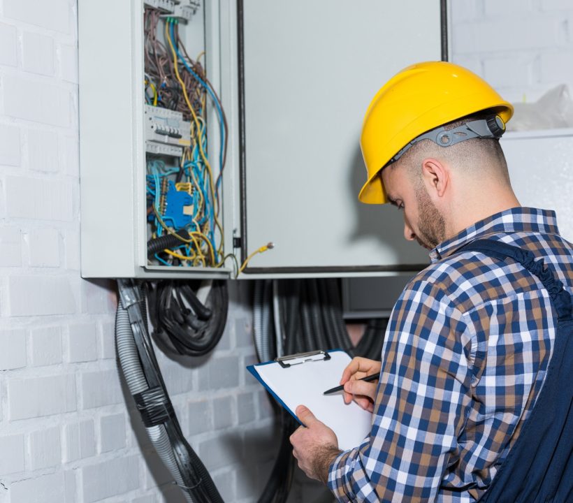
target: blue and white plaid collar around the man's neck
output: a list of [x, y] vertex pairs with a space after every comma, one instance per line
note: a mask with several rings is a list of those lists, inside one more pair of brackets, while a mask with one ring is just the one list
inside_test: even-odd
[[551, 210], [530, 207], [514, 207], [493, 214], [437, 245], [430, 251], [430, 259], [435, 263], [476, 238], [495, 233], [515, 232], [558, 234], [556, 214]]

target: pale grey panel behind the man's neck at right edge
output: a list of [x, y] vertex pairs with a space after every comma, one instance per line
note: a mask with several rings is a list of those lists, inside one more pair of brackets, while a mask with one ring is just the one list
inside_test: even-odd
[[573, 130], [507, 133], [501, 145], [521, 205], [555, 210], [561, 235], [573, 241]]

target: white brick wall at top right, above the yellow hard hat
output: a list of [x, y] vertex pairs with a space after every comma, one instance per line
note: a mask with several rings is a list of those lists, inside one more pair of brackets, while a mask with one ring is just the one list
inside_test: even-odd
[[452, 0], [451, 60], [512, 102], [558, 84], [573, 92], [573, 2]]

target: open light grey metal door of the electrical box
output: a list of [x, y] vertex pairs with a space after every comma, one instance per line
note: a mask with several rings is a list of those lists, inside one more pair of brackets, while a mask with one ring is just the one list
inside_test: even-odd
[[440, 59], [438, 0], [245, 0], [247, 245], [259, 268], [427, 263], [402, 216], [361, 205], [368, 103]]

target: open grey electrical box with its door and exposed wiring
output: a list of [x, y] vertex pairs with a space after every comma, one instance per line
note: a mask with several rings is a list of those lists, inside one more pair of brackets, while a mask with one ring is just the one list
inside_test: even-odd
[[240, 277], [428, 263], [399, 212], [358, 203], [358, 139], [386, 80], [440, 59], [439, 0], [79, 0], [78, 17], [83, 277], [234, 277], [268, 242]]

